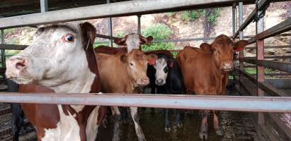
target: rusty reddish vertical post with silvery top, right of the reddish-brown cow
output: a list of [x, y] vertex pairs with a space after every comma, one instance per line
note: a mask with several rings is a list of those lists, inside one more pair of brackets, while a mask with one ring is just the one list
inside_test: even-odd
[[[258, 15], [263, 11], [258, 11]], [[264, 31], [263, 25], [263, 18], [260, 18], [258, 22], [256, 22], [256, 35]], [[257, 60], [264, 60], [264, 41], [263, 40], [256, 40], [256, 59]], [[264, 82], [265, 80], [265, 67], [263, 66], [256, 66], [256, 78], [257, 82]], [[264, 96], [263, 90], [261, 90], [257, 86], [257, 95]], [[263, 113], [258, 113], [258, 125], [263, 125], [265, 123]]]

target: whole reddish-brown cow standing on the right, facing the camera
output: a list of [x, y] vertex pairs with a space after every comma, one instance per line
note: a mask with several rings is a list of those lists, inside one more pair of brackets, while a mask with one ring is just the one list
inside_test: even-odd
[[[183, 81], [187, 90], [195, 94], [225, 94], [228, 72], [233, 68], [233, 52], [243, 49], [247, 41], [232, 42], [226, 35], [219, 35], [212, 44], [204, 44], [210, 51], [186, 47], [178, 53], [177, 61], [181, 66]], [[199, 136], [207, 140], [207, 116], [209, 111], [202, 111], [202, 124]], [[215, 133], [222, 135], [218, 114], [213, 111]]]

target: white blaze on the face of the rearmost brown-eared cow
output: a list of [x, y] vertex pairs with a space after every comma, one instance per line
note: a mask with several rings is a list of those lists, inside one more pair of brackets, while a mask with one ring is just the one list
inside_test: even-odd
[[140, 46], [140, 38], [139, 35], [136, 33], [127, 35], [127, 39], [125, 44], [127, 45], [127, 52], [132, 51], [132, 49], [139, 49]]

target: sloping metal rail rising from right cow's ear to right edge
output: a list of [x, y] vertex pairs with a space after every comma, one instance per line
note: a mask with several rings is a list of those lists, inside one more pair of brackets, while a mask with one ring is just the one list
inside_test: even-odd
[[259, 33], [255, 37], [249, 39], [248, 42], [249, 44], [253, 44], [256, 42], [256, 40], [266, 39], [289, 30], [291, 30], [291, 18], [287, 18], [287, 20], [283, 21], [282, 23], [279, 23], [278, 25], [270, 27], [268, 30]]

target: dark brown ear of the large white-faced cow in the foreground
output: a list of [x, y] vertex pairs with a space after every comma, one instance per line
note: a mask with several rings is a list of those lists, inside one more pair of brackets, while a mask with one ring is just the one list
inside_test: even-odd
[[81, 30], [84, 32], [84, 36], [90, 39], [91, 45], [93, 45], [96, 37], [96, 28], [91, 23], [86, 22], [81, 23]]

